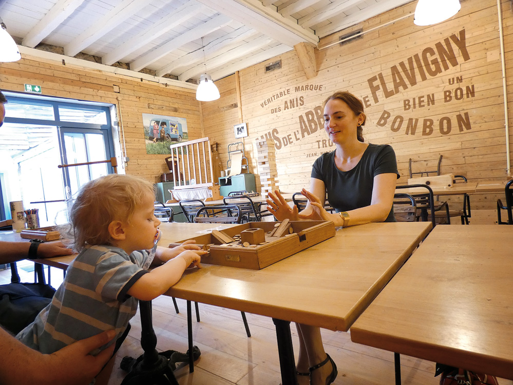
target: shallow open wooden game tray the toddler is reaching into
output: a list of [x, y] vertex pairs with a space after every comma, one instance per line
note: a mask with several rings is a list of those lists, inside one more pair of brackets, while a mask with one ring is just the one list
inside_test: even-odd
[[[229, 244], [220, 244], [211, 233], [191, 239], [208, 251], [201, 256], [202, 263], [259, 270], [335, 235], [333, 222], [297, 221], [290, 222], [292, 233], [282, 237], [270, 236], [275, 225], [279, 224], [249, 222], [222, 230], [230, 237], [238, 239], [243, 230], [263, 229], [266, 242], [249, 247], [242, 246], [240, 239]], [[186, 240], [170, 244], [169, 247], [179, 246], [184, 241]]]

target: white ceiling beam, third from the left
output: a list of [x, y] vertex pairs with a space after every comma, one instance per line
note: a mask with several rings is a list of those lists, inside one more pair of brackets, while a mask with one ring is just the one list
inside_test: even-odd
[[198, 4], [194, 0], [187, 2], [173, 13], [173, 17], [162, 17], [158, 23], [151, 25], [139, 36], [135, 36], [134, 38], [121, 44], [116, 49], [107, 53], [102, 58], [102, 63], [111, 65], [122, 58], [126, 58], [130, 53], [141, 47], [144, 47], [149, 42], [155, 40], [169, 30], [172, 30], [177, 25], [191, 19], [198, 13], [203, 12], [204, 9], [205, 8], [203, 5]]

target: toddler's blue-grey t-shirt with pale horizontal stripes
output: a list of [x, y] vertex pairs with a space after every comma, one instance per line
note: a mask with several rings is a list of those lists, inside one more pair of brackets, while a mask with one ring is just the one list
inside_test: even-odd
[[32, 349], [50, 354], [75, 341], [116, 329], [118, 339], [137, 311], [138, 300], [127, 295], [147, 273], [147, 251], [128, 255], [113, 246], [88, 246], [69, 265], [52, 302], [16, 338]]

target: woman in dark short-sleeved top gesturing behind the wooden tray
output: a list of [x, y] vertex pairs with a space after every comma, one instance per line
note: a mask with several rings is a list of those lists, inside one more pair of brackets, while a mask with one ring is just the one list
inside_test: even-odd
[[[335, 143], [333, 152], [322, 154], [313, 164], [305, 210], [290, 207], [278, 191], [269, 194], [267, 209], [279, 220], [315, 219], [347, 227], [370, 222], [395, 222], [392, 201], [397, 173], [395, 153], [390, 145], [364, 143], [364, 106], [354, 95], [339, 91], [324, 103], [324, 127]], [[337, 213], [324, 209], [326, 192]], [[337, 368], [324, 351], [318, 327], [297, 324], [299, 356], [298, 383], [328, 385]], [[328, 364], [329, 363], [329, 364]], [[307, 380], [309, 376], [309, 381]]]

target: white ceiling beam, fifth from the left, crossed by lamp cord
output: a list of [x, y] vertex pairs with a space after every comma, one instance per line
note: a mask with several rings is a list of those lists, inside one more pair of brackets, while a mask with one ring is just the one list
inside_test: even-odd
[[194, 63], [197, 63], [198, 61], [203, 60], [204, 56], [210, 56], [210, 54], [213, 52], [222, 50], [226, 46], [237, 44], [244, 39], [249, 39], [256, 33], [258, 32], [253, 29], [240, 27], [235, 31], [230, 32], [229, 34], [221, 36], [220, 38], [210, 42], [210, 44], [205, 46], [204, 54], [202, 49], [198, 49], [196, 51], [185, 54], [181, 58], [165, 65], [162, 68], [159, 68], [157, 70], [157, 76], [170, 74], [175, 68], [190, 66]]

